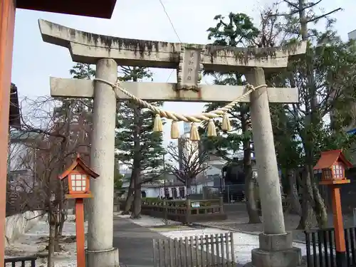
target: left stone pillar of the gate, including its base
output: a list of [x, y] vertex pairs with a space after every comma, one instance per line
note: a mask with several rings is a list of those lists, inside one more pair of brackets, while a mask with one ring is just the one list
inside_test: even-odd
[[[99, 59], [96, 63], [95, 77], [115, 83], [117, 80], [116, 61], [110, 58]], [[101, 179], [92, 179], [90, 184], [93, 199], [89, 201], [87, 261], [89, 267], [119, 266], [118, 250], [112, 248], [115, 92], [106, 83], [95, 83], [94, 99], [90, 167], [101, 175]]]

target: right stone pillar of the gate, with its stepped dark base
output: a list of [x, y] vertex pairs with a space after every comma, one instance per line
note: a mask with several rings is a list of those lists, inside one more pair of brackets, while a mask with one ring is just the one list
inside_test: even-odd
[[[255, 87], [266, 84], [262, 68], [250, 70], [246, 80]], [[263, 217], [263, 234], [258, 236], [260, 247], [251, 252], [252, 265], [255, 267], [300, 266], [302, 260], [300, 248], [293, 247], [293, 235], [291, 232], [286, 232], [284, 225], [281, 184], [266, 87], [251, 93], [250, 110]]]

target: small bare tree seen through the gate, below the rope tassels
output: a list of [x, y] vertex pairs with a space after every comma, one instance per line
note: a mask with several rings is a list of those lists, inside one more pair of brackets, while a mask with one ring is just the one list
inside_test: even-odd
[[167, 147], [167, 152], [172, 158], [170, 159], [172, 163], [167, 164], [167, 169], [186, 185], [187, 197], [189, 197], [192, 181], [209, 169], [206, 164], [208, 152], [201, 150], [199, 142], [191, 141], [188, 138], [180, 138], [178, 145], [171, 142]]

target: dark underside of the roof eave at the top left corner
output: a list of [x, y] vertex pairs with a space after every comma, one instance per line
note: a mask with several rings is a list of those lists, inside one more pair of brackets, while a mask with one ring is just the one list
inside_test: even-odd
[[18, 9], [110, 19], [116, 0], [16, 0]]

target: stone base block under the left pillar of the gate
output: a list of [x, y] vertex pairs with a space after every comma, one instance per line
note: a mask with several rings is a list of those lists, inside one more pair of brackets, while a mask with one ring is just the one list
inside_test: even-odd
[[119, 267], [119, 250], [85, 251], [88, 267]]

